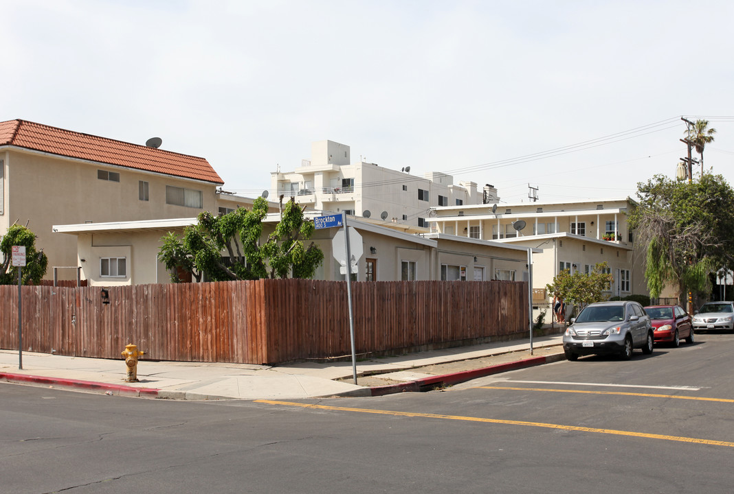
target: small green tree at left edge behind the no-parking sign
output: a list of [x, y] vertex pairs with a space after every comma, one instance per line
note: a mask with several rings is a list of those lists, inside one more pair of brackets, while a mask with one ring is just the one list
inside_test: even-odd
[[36, 235], [27, 226], [12, 224], [0, 240], [0, 252], [3, 256], [0, 265], [0, 284], [18, 283], [18, 268], [10, 265], [12, 246], [26, 248], [26, 265], [22, 270], [21, 283], [28, 284], [29, 281], [34, 284], [40, 283], [48, 269], [48, 257], [43, 253], [43, 248], [40, 251], [36, 250]]

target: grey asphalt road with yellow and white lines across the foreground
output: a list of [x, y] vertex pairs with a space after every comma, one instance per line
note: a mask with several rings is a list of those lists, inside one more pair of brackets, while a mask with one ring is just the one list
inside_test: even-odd
[[734, 335], [426, 394], [175, 402], [0, 384], [2, 493], [731, 493]]

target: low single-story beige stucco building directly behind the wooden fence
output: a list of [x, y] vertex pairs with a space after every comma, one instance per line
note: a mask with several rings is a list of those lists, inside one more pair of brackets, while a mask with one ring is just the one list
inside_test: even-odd
[[[277, 221], [277, 213], [268, 215], [264, 221], [264, 239]], [[182, 235], [184, 227], [195, 222], [196, 218], [172, 218], [54, 225], [54, 229], [57, 234], [76, 238], [82, 279], [87, 279], [92, 286], [114, 286], [170, 282], [170, 273], [157, 259], [161, 237], [167, 232]], [[353, 275], [356, 281], [486, 281], [495, 279], [493, 273], [526, 268], [527, 249], [520, 246], [455, 235], [416, 235], [357, 219], [350, 219], [348, 224], [360, 235], [363, 251], [357, 262], [357, 273]], [[345, 279], [333, 256], [336, 232], [335, 228], [316, 230], [310, 239], [324, 252], [324, 262], [315, 279]], [[99, 259], [106, 258], [126, 259], [126, 275], [104, 276]]]

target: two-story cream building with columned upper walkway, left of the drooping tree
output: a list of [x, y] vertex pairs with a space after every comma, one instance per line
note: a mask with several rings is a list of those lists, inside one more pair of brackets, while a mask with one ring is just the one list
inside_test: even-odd
[[[589, 272], [606, 262], [614, 276], [608, 296], [623, 297], [647, 294], [642, 259], [627, 222], [632, 207], [629, 198], [478, 204], [437, 207], [429, 221], [447, 235], [540, 249], [533, 256], [534, 290], [544, 290], [561, 270]], [[525, 268], [522, 279], [527, 276]], [[518, 273], [498, 277], [520, 280]], [[545, 294], [546, 300], [551, 297]]]

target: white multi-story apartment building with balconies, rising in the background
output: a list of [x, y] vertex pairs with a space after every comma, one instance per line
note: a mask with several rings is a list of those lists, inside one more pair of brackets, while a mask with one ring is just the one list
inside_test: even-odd
[[497, 189], [476, 183], [454, 184], [451, 175], [431, 172], [423, 177], [375, 163], [352, 163], [349, 146], [334, 141], [311, 144], [310, 160], [293, 172], [273, 172], [271, 192], [315, 210], [373, 218], [395, 224], [429, 228], [432, 207], [493, 204]]

